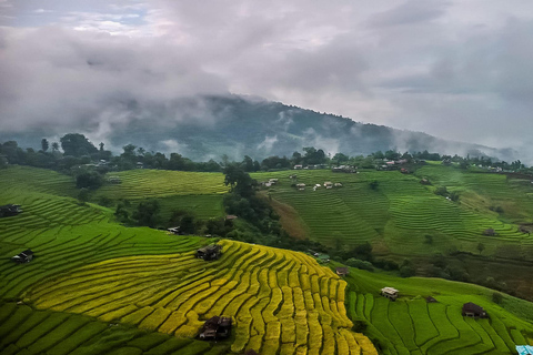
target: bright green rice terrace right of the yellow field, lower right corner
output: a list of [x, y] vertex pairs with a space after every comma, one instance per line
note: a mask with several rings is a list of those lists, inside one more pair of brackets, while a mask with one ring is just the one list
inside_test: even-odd
[[[346, 281], [349, 315], [369, 323], [368, 335], [379, 341], [383, 354], [515, 354], [515, 344], [533, 342], [533, 324], [516, 316], [531, 320], [532, 304], [517, 298], [506, 298], [502, 308], [489, 301], [490, 291], [482, 287], [440, 280], [402, 281], [356, 270]], [[401, 298], [391, 302], [380, 296], [385, 285], [398, 287]], [[438, 303], [422, 297], [429, 295]], [[490, 318], [463, 317], [461, 307], [466, 302], [482, 305]]]

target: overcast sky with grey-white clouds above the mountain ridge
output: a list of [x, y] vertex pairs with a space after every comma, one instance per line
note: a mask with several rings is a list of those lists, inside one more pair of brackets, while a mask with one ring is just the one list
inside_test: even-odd
[[0, 0], [0, 130], [224, 92], [533, 153], [533, 1]]

